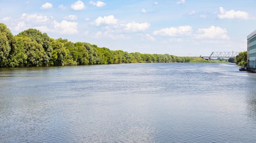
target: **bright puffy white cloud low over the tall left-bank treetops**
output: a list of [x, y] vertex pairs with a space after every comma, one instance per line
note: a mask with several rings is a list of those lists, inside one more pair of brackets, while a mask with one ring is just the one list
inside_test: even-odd
[[58, 23], [54, 20], [54, 28], [60, 34], [65, 35], [73, 35], [77, 34], [77, 22], [67, 22], [66, 20], [62, 20], [61, 23]]

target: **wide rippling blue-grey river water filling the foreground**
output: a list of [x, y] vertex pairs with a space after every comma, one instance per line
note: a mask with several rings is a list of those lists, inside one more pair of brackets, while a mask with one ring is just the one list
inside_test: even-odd
[[0, 68], [0, 142], [256, 142], [256, 74], [232, 63]]

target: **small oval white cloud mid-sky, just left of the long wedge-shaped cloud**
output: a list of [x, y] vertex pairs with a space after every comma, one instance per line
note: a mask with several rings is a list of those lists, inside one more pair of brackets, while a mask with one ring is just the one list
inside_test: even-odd
[[136, 31], [144, 31], [146, 29], [148, 29], [150, 26], [150, 23], [145, 22], [145, 23], [135, 23], [135, 22], [131, 22], [126, 24], [126, 28], [124, 28], [125, 30], [128, 31], [132, 31], [132, 32], [136, 32]]

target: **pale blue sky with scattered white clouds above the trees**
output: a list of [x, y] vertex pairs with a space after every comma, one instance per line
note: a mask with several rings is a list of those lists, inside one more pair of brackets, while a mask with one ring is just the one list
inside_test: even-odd
[[141, 54], [243, 52], [256, 30], [256, 0], [0, 0], [13, 35], [34, 28], [53, 39]]

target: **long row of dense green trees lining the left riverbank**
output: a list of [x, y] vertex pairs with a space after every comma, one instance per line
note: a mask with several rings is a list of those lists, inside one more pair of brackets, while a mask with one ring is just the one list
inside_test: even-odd
[[85, 42], [72, 43], [67, 39], [52, 39], [46, 33], [31, 28], [13, 35], [5, 24], [0, 23], [0, 67], [228, 61], [236, 63], [239, 60], [233, 58], [208, 61], [201, 57], [128, 53], [122, 50], [100, 48]]

